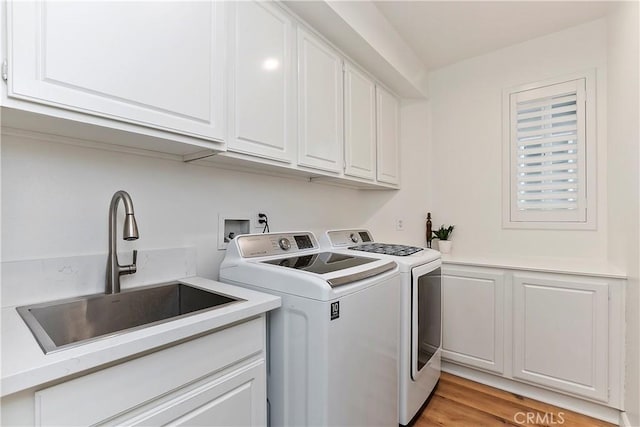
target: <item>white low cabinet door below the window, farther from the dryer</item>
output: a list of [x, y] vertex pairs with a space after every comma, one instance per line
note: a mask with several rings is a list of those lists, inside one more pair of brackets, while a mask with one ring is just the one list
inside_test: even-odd
[[513, 275], [513, 377], [608, 399], [606, 281]]

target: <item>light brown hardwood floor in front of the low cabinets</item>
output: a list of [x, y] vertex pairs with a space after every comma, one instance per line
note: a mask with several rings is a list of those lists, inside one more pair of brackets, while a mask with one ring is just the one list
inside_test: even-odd
[[414, 427], [570, 426], [613, 424], [442, 373]]

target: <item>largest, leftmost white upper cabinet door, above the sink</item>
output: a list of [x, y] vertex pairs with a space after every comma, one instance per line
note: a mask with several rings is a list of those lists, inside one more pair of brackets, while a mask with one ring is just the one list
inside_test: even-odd
[[9, 96], [224, 139], [222, 2], [9, 2]]

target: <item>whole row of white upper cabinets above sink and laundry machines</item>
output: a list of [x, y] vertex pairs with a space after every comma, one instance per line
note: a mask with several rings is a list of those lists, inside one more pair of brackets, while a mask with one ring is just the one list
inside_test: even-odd
[[206, 0], [5, 7], [7, 128], [398, 188], [397, 98], [286, 7]]

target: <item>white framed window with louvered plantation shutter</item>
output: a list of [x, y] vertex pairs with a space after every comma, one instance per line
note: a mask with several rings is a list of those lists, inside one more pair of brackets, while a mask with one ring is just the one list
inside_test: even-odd
[[[507, 104], [508, 103], [508, 104]], [[507, 228], [590, 228], [587, 78], [505, 93]], [[508, 112], [506, 111], [508, 108]], [[506, 129], [505, 125], [505, 129]], [[594, 134], [595, 135], [595, 134]], [[505, 178], [506, 174], [505, 174]], [[508, 204], [508, 206], [507, 206]], [[577, 225], [577, 226], [576, 226]]]

